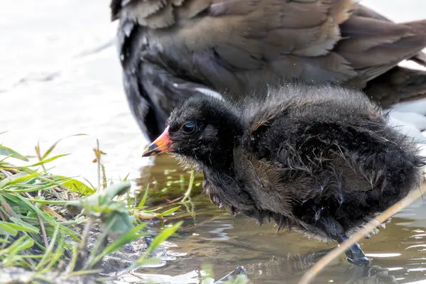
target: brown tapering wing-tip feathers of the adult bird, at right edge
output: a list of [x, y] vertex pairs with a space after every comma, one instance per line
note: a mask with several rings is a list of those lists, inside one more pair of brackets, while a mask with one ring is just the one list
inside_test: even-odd
[[367, 82], [420, 53], [426, 45], [424, 31], [426, 21], [398, 24], [353, 16], [342, 24], [344, 40], [335, 50]]

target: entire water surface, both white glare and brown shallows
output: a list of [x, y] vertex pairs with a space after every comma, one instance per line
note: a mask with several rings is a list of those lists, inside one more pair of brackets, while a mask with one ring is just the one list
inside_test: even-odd
[[[424, 0], [363, 3], [395, 21], [426, 16]], [[104, 164], [113, 178], [129, 172], [131, 178], [138, 178], [139, 168], [151, 163], [141, 159], [146, 141], [131, 117], [121, 86], [112, 44], [116, 23], [109, 22], [108, 6], [106, 0], [20, 0], [3, 3], [0, 11], [0, 132], [10, 131], [1, 134], [0, 143], [32, 154], [38, 140], [47, 149], [59, 138], [87, 133], [89, 136], [68, 138], [58, 145], [53, 154], [72, 155], [55, 161], [53, 171], [84, 175], [92, 182], [96, 178], [96, 165], [91, 163], [96, 138], [107, 152]], [[178, 168], [174, 160], [162, 157], [146, 171], [160, 185], [166, 179], [164, 170], [171, 168]], [[182, 174], [187, 178], [187, 173]], [[161, 190], [156, 188], [157, 193]], [[185, 186], [173, 185], [163, 197], [173, 200], [182, 190]], [[259, 227], [245, 217], [232, 219], [197, 192], [199, 186], [193, 192], [193, 208], [188, 205], [195, 214], [187, 213], [179, 236], [171, 238], [165, 244], [171, 247], [160, 255], [168, 260], [163, 266], [139, 269], [133, 275], [175, 276], [210, 264], [216, 279], [241, 266], [253, 283], [297, 283], [321, 250], [335, 245], [296, 233], [275, 234], [273, 226]], [[426, 280], [425, 238], [426, 205], [417, 202], [394, 217], [378, 236], [362, 241], [367, 256], [373, 258], [371, 269], [361, 271], [342, 256], [315, 283], [346, 283], [363, 275], [368, 277], [359, 283]], [[163, 277], [164, 281], [171, 282]]]

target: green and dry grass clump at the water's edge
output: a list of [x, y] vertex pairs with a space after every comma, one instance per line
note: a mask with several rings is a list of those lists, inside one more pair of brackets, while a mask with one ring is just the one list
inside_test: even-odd
[[[98, 165], [98, 186], [75, 178], [49, 173], [46, 166], [65, 155], [50, 157], [60, 141], [41, 153], [35, 146], [38, 160], [30, 163], [28, 156], [0, 145], [0, 278], [6, 279], [6, 268], [25, 268], [31, 271], [27, 281], [43, 279], [54, 283], [60, 278], [97, 275], [102, 271], [102, 259], [119, 251], [131, 241], [146, 236], [146, 223], [135, 218], [145, 211], [146, 197], [132, 206], [129, 199], [130, 182], [124, 179], [107, 186], [105, 169], [101, 163], [104, 154], [99, 143], [94, 149]], [[26, 165], [13, 165], [15, 158]], [[159, 217], [173, 213], [174, 207]], [[96, 242], [88, 249], [89, 232], [99, 226]], [[151, 245], [129, 268], [130, 271], [147, 261], [149, 253], [180, 226], [168, 226], [158, 234]], [[46, 273], [55, 271], [55, 278]], [[20, 273], [17, 273], [20, 274]], [[22, 274], [22, 273], [21, 273]], [[10, 275], [9, 275], [10, 276]], [[50, 280], [47, 280], [50, 279]]]

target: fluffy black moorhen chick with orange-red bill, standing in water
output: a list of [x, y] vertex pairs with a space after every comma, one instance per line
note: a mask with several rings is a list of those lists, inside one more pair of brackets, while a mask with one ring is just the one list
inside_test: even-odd
[[[174, 153], [219, 207], [342, 242], [420, 186], [425, 158], [364, 94], [288, 84], [266, 99], [194, 96], [143, 156]], [[359, 245], [349, 261], [368, 261]]]

